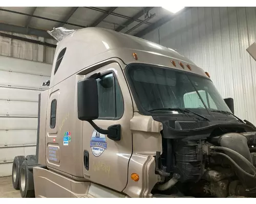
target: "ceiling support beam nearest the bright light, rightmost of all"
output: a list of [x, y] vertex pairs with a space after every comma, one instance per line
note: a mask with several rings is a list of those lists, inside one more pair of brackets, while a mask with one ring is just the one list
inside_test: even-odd
[[142, 31], [139, 31], [138, 33], [136, 33], [134, 36], [136, 37], [143, 37], [144, 35], [146, 35], [147, 33], [150, 33], [152, 31], [154, 31], [155, 29], [161, 27], [161, 25], [165, 24], [166, 22], [173, 20], [175, 17], [177, 17], [178, 15], [180, 15], [181, 13], [186, 12], [188, 9], [190, 9], [191, 7], [186, 7], [185, 9], [182, 9], [179, 13], [175, 14], [175, 15], [166, 15], [163, 18], [159, 19], [158, 21], [152, 23], [151, 25], [148, 25], [148, 27], [146, 27], [145, 29], [143, 29]]

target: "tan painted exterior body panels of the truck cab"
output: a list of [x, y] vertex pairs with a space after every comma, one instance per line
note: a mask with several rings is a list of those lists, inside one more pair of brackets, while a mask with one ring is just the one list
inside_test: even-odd
[[[66, 49], [54, 74], [56, 59]], [[138, 59], [134, 57], [137, 54]], [[174, 60], [176, 67], [170, 62]], [[189, 64], [192, 70], [186, 66]], [[41, 93], [39, 164], [34, 167], [36, 197], [152, 197], [156, 151], [162, 152], [162, 124], [138, 113], [125, 68], [131, 63], [154, 64], [204, 75], [203, 69], [161, 45], [114, 31], [86, 28], [75, 31], [57, 45], [50, 88]], [[90, 147], [93, 127], [77, 117], [78, 81], [100, 72], [113, 72], [120, 86], [124, 111], [117, 120], [97, 119], [102, 129], [121, 125], [121, 140], [106, 138], [107, 148], [95, 157]], [[88, 97], [90, 99], [90, 97]], [[50, 127], [51, 103], [56, 99], [56, 123]], [[68, 145], [63, 140], [68, 135]], [[89, 170], [83, 152], [89, 152]], [[139, 181], [131, 179], [137, 173]]]

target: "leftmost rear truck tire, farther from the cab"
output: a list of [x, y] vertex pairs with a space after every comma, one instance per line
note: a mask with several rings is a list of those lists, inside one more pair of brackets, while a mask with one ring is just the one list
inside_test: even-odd
[[12, 185], [15, 190], [19, 190], [19, 173], [24, 160], [24, 156], [16, 156], [12, 163]]

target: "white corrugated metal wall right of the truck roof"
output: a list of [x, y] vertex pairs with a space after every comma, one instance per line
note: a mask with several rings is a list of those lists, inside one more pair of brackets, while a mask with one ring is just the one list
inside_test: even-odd
[[235, 114], [256, 124], [256, 62], [246, 48], [256, 41], [254, 7], [191, 8], [144, 39], [176, 49], [210, 73]]

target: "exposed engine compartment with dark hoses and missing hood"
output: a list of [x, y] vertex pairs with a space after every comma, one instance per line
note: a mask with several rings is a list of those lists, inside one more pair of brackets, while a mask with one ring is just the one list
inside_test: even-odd
[[[153, 195], [256, 197], [256, 129], [246, 123], [159, 120]], [[160, 196], [160, 197], [161, 197]]]

